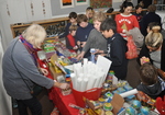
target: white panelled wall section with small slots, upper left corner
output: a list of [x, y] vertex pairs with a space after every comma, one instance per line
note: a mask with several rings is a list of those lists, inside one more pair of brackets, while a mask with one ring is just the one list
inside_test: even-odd
[[[33, 3], [33, 9], [31, 9], [31, 3]], [[10, 24], [51, 19], [51, 2], [50, 0], [0, 0], [0, 18], [2, 45], [7, 49], [8, 44], [12, 39]]]

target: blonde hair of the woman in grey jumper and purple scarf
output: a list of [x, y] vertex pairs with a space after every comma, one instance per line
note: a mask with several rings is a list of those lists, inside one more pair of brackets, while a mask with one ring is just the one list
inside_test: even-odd
[[46, 32], [43, 26], [38, 24], [32, 24], [22, 33], [22, 36], [34, 47], [41, 48], [41, 44], [46, 37]]

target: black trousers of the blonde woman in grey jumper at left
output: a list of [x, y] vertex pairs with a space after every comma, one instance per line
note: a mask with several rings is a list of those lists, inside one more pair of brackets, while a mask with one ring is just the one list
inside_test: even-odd
[[20, 115], [28, 115], [28, 107], [32, 115], [42, 115], [42, 105], [36, 97], [29, 100], [16, 100]]

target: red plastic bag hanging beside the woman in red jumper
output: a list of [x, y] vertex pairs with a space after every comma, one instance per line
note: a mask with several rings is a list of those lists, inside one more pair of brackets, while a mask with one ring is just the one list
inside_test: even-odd
[[128, 36], [127, 46], [128, 46], [128, 51], [125, 53], [127, 59], [134, 59], [134, 58], [136, 58], [138, 57], [138, 50], [136, 50], [136, 46], [135, 46], [131, 35]]

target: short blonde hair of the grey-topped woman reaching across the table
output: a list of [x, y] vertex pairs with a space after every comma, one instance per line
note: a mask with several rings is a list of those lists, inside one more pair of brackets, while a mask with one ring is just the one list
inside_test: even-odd
[[98, 11], [94, 14], [94, 21], [103, 22], [106, 20], [107, 15], [102, 11]]

